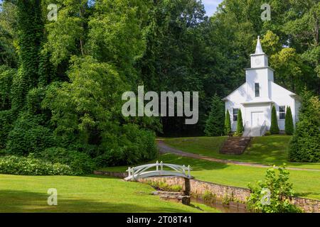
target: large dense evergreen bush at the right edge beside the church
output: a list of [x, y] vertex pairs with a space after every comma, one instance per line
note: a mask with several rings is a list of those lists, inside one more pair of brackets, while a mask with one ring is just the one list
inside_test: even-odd
[[289, 160], [293, 162], [320, 161], [320, 101], [304, 98], [300, 121], [289, 144]]

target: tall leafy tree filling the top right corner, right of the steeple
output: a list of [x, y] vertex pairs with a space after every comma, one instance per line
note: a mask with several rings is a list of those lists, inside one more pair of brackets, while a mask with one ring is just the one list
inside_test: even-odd
[[282, 30], [289, 38], [289, 45], [295, 48], [311, 70], [304, 74], [302, 82], [316, 94], [320, 93], [320, 2], [290, 1], [290, 9]]

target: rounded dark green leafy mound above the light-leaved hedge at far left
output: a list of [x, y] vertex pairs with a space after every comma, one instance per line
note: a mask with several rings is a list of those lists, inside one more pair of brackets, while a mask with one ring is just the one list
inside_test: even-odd
[[41, 116], [21, 114], [8, 135], [6, 152], [10, 155], [26, 156], [53, 147], [55, 145], [53, 135], [49, 128], [41, 126], [42, 121]]

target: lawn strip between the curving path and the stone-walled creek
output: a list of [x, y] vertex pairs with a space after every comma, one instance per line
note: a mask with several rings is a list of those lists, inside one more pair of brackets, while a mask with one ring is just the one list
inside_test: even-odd
[[[177, 155], [161, 155], [159, 161], [178, 165], [191, 165], [191, 175], [206, 182], [215, 182], [237, 187], [247, 187], [249, 182], [256, 182], [265, 177], [266, 168], [247, 167], [198, 160]], [[105, 171], [124, 172], [127, 167], [108, 167]], [[289, 170], [290, 181], [294, 184], [297, 196], [320, 199], [320, 172]]]

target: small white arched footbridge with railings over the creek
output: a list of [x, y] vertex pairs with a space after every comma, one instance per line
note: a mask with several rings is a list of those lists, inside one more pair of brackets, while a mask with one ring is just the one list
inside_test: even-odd
[[[153, 169], [153, 170], [152, 170]], [[191, 167], [188, 165], [166, 164], [156, 161], [155, 164], [140, 165], [137, 167], [129, 167], [127, 172], [129, 176], [124, 178], [127, 181], [137, 181], [139, 178], [174, 176], [191, 179]]]

